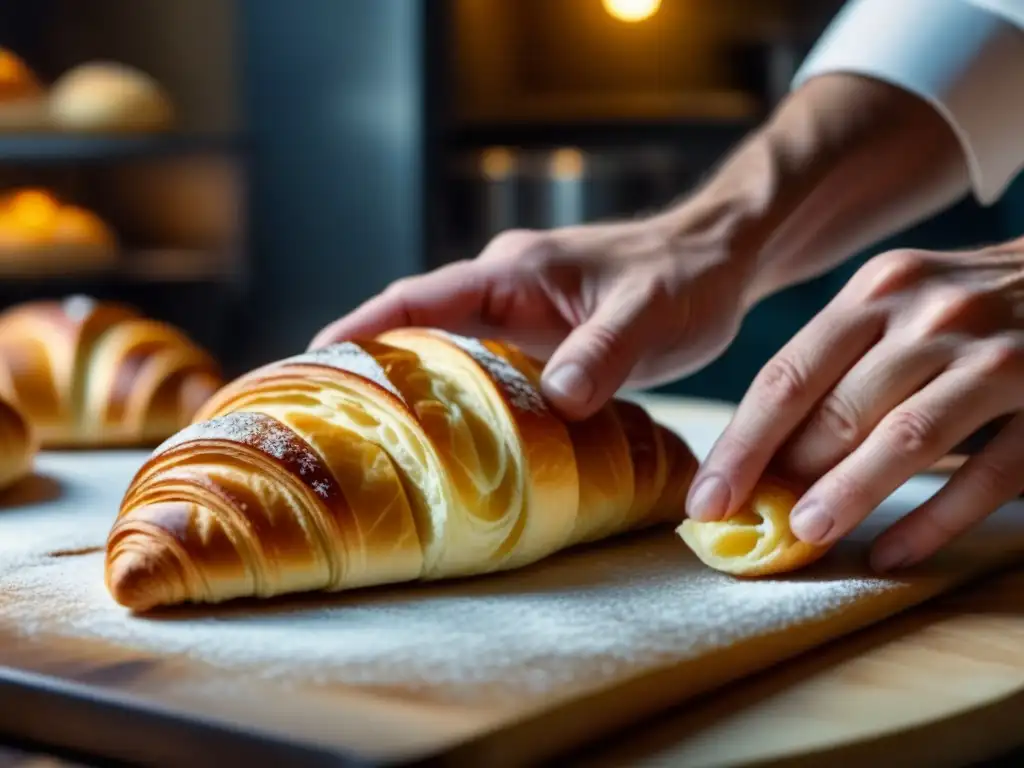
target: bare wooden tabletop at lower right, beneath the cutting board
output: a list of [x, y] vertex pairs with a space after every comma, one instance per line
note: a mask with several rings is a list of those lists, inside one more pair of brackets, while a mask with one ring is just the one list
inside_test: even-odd
[[1024, 746], [1022, 595], [1020, 567], [993, 574], [668, 712], [573, 764], [994, 761]]

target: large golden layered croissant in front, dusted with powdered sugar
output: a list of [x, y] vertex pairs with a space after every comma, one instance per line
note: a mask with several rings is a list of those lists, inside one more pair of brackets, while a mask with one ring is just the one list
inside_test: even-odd
[[682, 516], [696, 460], [639, 406], [566, 424], [507, 344], [403, 329], [227, 384], [132, 479], [133, 610], [482, 574]]

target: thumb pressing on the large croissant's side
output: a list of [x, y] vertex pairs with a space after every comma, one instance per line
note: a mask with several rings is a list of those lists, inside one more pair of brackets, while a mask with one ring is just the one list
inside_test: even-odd
[[636, 288], [608, 296], [551, 356], [541, 386], [566, 418], [590, 417], [629, 379], [654, 338], [647, 298]]

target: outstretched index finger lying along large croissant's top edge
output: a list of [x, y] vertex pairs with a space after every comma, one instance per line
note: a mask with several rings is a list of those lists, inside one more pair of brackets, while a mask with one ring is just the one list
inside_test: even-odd
[[475, 261], [457, 261], [424, 274], [399, 280], [344, 317], [319, 331], [310, 349], [394, 328], [425, 326], [465, 331], [478, 325], [492, 286], [490, 273]]

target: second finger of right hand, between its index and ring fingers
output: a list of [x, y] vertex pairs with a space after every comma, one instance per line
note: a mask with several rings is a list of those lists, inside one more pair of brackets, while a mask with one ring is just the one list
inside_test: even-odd
[[814, 408], [776, 460], [786, 475], [821, 477], [860, 445], [883, 417], [952, 360], [953, 342], [887, 336]]

